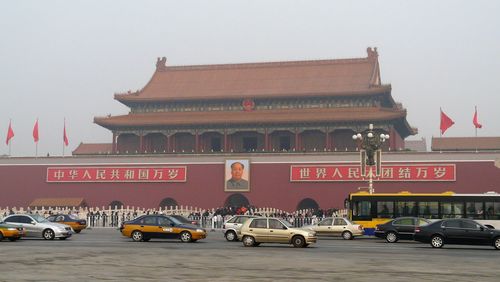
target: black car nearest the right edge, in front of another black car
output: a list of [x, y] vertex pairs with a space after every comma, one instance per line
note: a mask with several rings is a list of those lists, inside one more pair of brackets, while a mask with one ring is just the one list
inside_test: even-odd
[[500, 249], [500, 230], [490, 229], [472, 219], [443, 219], [415, 229], [415, 241], [430, 243], [433, 248], [444, 244], [493, 245]]

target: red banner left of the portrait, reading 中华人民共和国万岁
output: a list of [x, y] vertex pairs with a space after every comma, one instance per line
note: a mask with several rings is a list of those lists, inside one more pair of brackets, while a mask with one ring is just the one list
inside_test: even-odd
[[186, 182], [185, 166], [49, 167], [47, 182]]

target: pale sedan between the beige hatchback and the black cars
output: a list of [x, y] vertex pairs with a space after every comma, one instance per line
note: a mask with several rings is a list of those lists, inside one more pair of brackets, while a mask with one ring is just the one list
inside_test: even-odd
[[317, 236], [342, 236], [345, 240], [352, 240], [364, 234], [363, 226], [342, 217], [327, 217], [317, 224], [302, 228], [316, 231]]

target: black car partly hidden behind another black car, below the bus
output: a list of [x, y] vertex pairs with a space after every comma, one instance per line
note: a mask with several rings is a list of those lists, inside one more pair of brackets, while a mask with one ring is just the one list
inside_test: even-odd
[[413, 240], [415, 227], [431, 223], [428, 219], [420, 217], [398, 217], [375, 228], [375, 236], [385, 239], [388, 243], [398, 240]]

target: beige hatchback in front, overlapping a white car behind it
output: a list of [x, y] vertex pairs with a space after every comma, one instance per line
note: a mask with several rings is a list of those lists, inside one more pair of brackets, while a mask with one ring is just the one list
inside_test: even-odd
[[245, 247], [256, 247], [261, 243], [292, 244], [296, 248], [316, 243], [316, 232], [293, 228], [278, 218], [250, 218], [241, 227], [239, 239]]

